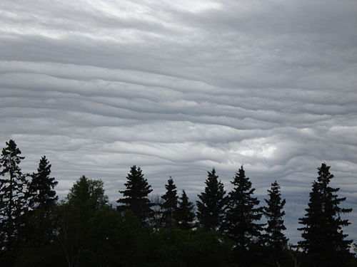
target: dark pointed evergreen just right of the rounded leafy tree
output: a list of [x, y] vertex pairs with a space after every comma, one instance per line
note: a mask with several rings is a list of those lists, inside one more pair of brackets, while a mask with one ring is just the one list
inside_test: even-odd
[[144, 174], [141, 172], [140, 167], [136, 168], [135, 165], [131, 167], [126, 179], [128, 179], [125, 183], [126, 190], [119, 191], [119, 193], [123, 194], [124, 198], [117, 201], [123, 205], [117, 206], [117, 209], [119, 211], [131, 209], [134, 215], [144, 222], [152, 213], [152, 204], [148, 199], [148, 195], [153, 190], [147, 180], [144, 179]]

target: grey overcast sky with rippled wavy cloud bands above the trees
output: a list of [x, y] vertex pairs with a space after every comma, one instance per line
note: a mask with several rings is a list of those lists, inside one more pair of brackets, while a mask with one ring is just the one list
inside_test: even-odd
[[2, 0], [1, 147], [46, 155], [61, 198], [86, 175], [115, 201], [135, 164], [195, 201], [243, 165], [292, 243], [326, 162], [357, 240], [356, 25], [355, 0]]

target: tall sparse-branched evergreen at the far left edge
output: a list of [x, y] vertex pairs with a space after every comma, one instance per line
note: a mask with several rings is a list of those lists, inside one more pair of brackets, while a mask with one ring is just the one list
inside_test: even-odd
[[19, 244], [19, 231], [24, 226], [27, 199], [26, 176], [19, 164], [24, 157], [14, 140], [6, 142], [0, 159], [0, 251], [10, 251]]

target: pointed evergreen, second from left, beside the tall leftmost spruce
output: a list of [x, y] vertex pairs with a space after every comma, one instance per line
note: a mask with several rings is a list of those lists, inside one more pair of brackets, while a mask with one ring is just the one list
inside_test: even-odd
[[46, 156], [41, 157], [37, 172], [31, 175], [31, 182], [28, 187], [29, 206], [32, 209], [42, 209], [44, 211], [54, 206], [58, 197], [54, 187], [58, 184], [51, 174], [51, 164]]

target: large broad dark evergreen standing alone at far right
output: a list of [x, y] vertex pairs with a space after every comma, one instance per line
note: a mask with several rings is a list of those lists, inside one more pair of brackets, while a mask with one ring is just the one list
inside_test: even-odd
[[300, 231], [303, 241], [298, 244], [306, 252], [306, 266], [346, 266], [351, 256], [348, 249], [352, 241], [347, 241], [347, 234], [341, 230], [350, 224], [347, 219], [341, 219], [341, 214], [351, 212], [339, 205], [346, 197], [338, 198], [339, 188], [329, 187], [333, 174], [330, 166], [325, 163], [318, 168], [317, 180], [313, 182], [308, 209], [299, 223], [303, 224]]

